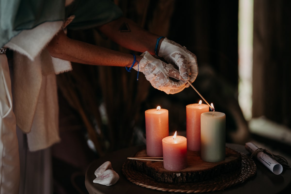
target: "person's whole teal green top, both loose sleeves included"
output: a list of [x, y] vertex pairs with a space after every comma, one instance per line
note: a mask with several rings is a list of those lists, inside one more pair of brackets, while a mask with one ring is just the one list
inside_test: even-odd
[[88, 29], [122, 16], [111, 0], [0, 0], [0, 47], [24, 29], [75, 15], [68, 29]]

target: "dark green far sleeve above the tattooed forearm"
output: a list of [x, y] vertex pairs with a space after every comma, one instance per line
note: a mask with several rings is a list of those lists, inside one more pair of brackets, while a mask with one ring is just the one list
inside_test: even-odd
[[66, 8], [66, 15], [75, 15], [68, 29], [89, 29], [106, 24], [123, 15], [112, 0], [75, 0]]

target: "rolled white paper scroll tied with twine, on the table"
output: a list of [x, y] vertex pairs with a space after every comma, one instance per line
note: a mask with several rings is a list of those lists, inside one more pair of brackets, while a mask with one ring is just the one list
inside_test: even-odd
[[[251, 142], [247, 142], [245, 145], [246, 150], [253, 153], [257, 149], [259, 149], [255, 144]], [[265, 152], [258, 152], [256, 154], [258, 161], [260, 161], [263, 165], [265, 165], [269, 170], [271, 170], [275, 175], [280, 175], [283, 171], [283, 166], [278, 163], [276, 160], [272, 159], [268, 154]]]

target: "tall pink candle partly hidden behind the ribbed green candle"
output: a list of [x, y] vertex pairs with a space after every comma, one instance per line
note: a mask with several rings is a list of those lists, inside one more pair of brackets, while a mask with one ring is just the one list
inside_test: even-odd
[[186, 106], [186, 137], [187, 149], [191, 151], [200, 151], [200, 115], [208, 112], [209, 106], [202, 104], [202, 100], [197, 104], [188, 104]]

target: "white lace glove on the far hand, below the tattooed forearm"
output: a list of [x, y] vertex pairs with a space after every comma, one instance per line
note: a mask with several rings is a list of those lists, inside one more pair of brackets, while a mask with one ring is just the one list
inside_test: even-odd
[[[184, 80], [189, 80], [192, 83], [196, 79], [198, 74], [196, 56], [185, 47], [164, 38], [158, 55], [163, 57], [168, 63], [177, 65]], [[186, 84], [186, 87], [189, 87], [189, 84]]]

